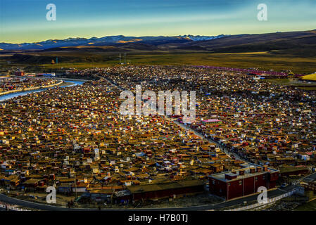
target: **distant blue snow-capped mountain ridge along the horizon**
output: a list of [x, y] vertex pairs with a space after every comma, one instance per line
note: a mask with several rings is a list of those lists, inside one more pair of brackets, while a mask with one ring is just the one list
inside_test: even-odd
[[106, 37], [91, 37], [87, 38], [68, 38], [68, 39], [49, 39], [46, 41], [23, 43], [23, 44], [11, 44], [0, 43], [0, 49], [2, 51], [28, 51], [28, 50], [45, 50], [60, 47], [77, 47], [77, 46], [115, 46], [120, 44], [128, 44], [137, 42], [139, 44], [151, 44], [154, 46], [169, 43], [185, 43], [189, 41], [206, 41], [212, 39], [220, 39], [222, 37], [228, 37], [229, 35], [218, 36], [200, 36], [200, 35], [182, 35], [175, 37], [125, 37], [123, 35], [118, 36], [106, 36]]

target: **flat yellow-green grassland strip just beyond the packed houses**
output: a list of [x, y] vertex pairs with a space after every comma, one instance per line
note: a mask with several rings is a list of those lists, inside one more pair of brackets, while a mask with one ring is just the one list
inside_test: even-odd
[[[51, 60], [58, 56], [58, 64]], [[42, 60], [41, 58], [44, 58]], [[39, 60], [41, 59], [41, 60]], [[127, 53], [129, 65], [212, 65], [230, 68], [261, 68], [264, 70], [292, 70], [310, 74], [316, 71], [316, 57], [297, 57], [271, 52], [258, 53]], [[123, 61], [123, 60], [122, 60]], [[102, 68], [118, 65], [118, 53], [42, 53], [11, 66], [27, 66], [43, 69]], [[1, 62], [0, 62], [1, 63]]]

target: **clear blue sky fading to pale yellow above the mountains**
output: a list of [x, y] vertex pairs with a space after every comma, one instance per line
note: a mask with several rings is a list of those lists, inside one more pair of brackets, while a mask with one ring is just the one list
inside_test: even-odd
[[[267, 5], [267, 21], [257, 6]], [[46, 5], [56, 5], [56, 21]], [[0, 0], [0, 42], [316, 29], [315, 0]]]

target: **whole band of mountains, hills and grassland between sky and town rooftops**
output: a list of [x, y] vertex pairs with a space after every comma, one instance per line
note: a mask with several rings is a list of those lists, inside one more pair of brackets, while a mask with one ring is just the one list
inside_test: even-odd
[[0, 60], [4, 64], [9, 61], [15, 65], [48, 66], [51, 60], [58, 57], [58, 65], [54, 66], [71, 67], [72, 63], [76, 63], [76, 66], [90, 67], [117, 65], [125, 61], [119, 56], [127, 53], [127, 62], [137, 65], [255, 67], [293, 70], [300, 74], [316, 70], [316, 30], [218, 37], [115, 36], [89, 40], [66, 39], [60, 42], [57, 46], [42, 44], [39, 49], [29, 50], [8, 50], [0, 46], [4, 49], [0, 51]]

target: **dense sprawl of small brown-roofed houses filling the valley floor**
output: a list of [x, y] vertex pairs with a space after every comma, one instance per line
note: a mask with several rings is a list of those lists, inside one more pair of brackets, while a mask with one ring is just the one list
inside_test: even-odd
[[[244, 161], [315, 165], [315, 91], [187, 66], [69, 73], [100, 79], [1, 102], [1, 186], [146, 200], [201, 193], [210, 174], [241, 169]], [[196, 120], [185, 125], [205, 139], [177, 125], [181, 116], [121, 115], [121, 89], [113, 84], [196, 91]]]

